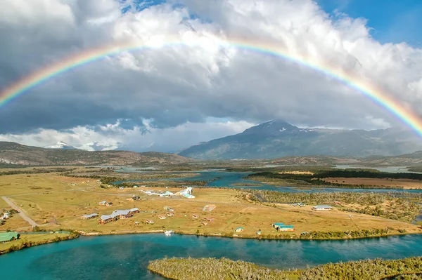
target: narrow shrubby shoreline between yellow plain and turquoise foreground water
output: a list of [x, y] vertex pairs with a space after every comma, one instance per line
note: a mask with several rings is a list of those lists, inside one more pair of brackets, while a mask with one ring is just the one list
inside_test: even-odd
[[[19, 246], [11, 246], [10, 248], [4, 250], [4, 251], [0, 251], [0, 256], [1, 255], [5, 255], [6, 253], [12, 253], [14, 251], [20, 251], [23, 250], [25, 248], [30, 248], [30, 247], [34, 247], [34, 246], [41, 246], [41, 245], [45, 245], [45, 244], [51, 244], [51, 243], [56, 243], [56, 242], [60, 242], [60, 241], [69, 241], [72, 239], [77, 239], [80, 236], [108, 236], [108, 235], [124, 235], [124, 234], [158, 234], [158, 233], [162, 233], [164, 234], [165, 230], [163, 229], [158, 229], [158, 230], [148, 230], [148, 231], [136, 231], [136, 230], [128, 230], [128, 231], [122, 231], [122, 232], [82, 232], [82, 231], [75, 231], [78, 232], [79, 235], [77, 236], [72, 236], [71, 234], [69, 236], [65, 236], [65, 237], [58, 237], [58, 240], [45, 240], [45, 241], [38, 241], [36, 243], [32, 243], [32, 242], [26, 242], [24, 244], [20, 244]], [[373, 235], [373, 236], [359, 236], [359, 237], [352, 237], [352, 238], [330, 238], [330, 239], [317, 239], [317, 238], [310, 238], [310, 239], [301, 239], [300, 236], [296, 236], [295, 238], [293, 238], [293, 236], [290, 237], [290, 239], [278, 239], [278, 238], [259, 238], [258, 236], [241, 236], [241, 235], [224, 235], [224, 234], [218, 234], [218, 233], [211, 233], [211, 234], [196, 234], [196, 233], [189, 233], [189, 232], [174, 232], [173, 234], [179, 234], [179, 235], [196, 235], [196, 236], [204, 236], [204, 237], [220, 237], [220, 238], [231, 238], [231, 239], [257, 239], [257, 240], [262, 240], [262, 241], [269, 241], [269, 240], [283, 240], [283, 241], [289, 241], [289, 240], [294, 240], [294, 241], [340, 241], [340, 240], [354, 240], [354, 239], [374, 239], [374, 238], [386, 238], [386, 237], [390, 237], [390, 236], [404, 236], [404, 235], [420, 235], [422, 233], [394, 233], [394, 234], [382, 234], [382, 235]], [[18, 239], [20, 240], [20, 239]]]

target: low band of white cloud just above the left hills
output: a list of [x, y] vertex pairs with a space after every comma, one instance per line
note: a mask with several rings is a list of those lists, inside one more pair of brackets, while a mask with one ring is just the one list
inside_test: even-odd
[[77, 126], [66, 131], [41, 129], [24, 135], [0, 135], [0, 141], [19, 142], [24, 145], [44, 147], [63, 141], [78, 149], [130, 149], [135, 151], [177, 152], [213, 137], [241, 133], [253, 124], [246, 121], [186, 123], [172, 128], [154, 128], [151, 120], [143, 120], [145, 127], [124, 129], [120, 121], [92, 128]]

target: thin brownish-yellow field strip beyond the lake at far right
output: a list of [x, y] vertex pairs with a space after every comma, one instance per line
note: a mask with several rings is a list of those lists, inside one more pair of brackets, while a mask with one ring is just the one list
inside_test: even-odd
[[411, 179], [324, 178], [322, 180], [326, 182], [335, 182], [340, 184], [403, 187], [404, 189], [422, 189], [422, 181]]

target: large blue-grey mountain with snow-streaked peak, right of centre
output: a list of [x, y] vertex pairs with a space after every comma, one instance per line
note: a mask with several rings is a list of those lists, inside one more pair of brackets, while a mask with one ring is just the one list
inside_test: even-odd
[[298, 128], [268, 121], [243, 133], [203, 142], [180, 152], [193, 159], [275, 159], [283, 156], [396, 156], [422, 149], [413, 131]]

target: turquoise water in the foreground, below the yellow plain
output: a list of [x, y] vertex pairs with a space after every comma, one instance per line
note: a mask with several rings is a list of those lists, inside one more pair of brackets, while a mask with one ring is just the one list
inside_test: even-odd
[[333, 241], [276, 241], [172, 234], [81, 236], [0, 256], [1, 279], [163, 279], [148, 272], [158, 258], [231, 258], [267, 267], [421, 255], [422, 235]]

